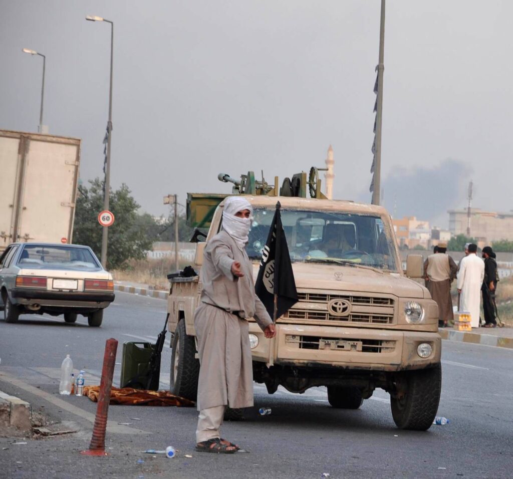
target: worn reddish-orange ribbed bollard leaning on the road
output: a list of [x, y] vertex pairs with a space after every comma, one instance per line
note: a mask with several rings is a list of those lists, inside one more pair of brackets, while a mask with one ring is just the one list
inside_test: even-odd
[[93, 435], [89, 449], [81, 454], [88, 456], [107, 456], [105, 452], [105, 430], [107, 428], [107, 413], [109, 411], [110, 391], [112, 388], [112, 377], [116, 362], [117, 340], [110, 338], [105, 344], [105, 355], [103, 356], [102, 379], [100, 381], [100, 393], [98, 394], [98, 406], [94, 418]]

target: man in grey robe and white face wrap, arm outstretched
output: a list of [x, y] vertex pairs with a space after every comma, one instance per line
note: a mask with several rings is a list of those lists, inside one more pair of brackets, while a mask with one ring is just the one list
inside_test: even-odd
[[194, 313], [198, 339], [198, 428], [196, 450], [233, 453], [238, 446], [221, 438], [227, 406], [253, 406], [253, 370], [247, 319], [253, 317], [265, 337], [275, 327], [255, 295], [253, 266], [245, 246], [253, 208], [241, 196], [226, 199], [222, 230], [205, 248], [201, 303]]

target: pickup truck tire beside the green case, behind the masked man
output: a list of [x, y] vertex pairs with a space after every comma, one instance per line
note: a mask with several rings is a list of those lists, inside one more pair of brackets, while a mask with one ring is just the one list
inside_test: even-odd
[[194, 357], [195, 354], [194, 337], [187, 335], [185, 320], [182, 319], [174, 331], [170, 390], [173, 394], [191, 401], [196, 401], [198, 398], [198, 378], [200, 376], [200, 362]]

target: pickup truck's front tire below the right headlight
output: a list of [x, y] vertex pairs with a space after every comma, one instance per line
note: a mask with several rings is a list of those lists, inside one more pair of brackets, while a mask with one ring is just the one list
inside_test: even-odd
[[406, 394], [390, 397], [393, 422], [399, 429], [425, 431], [431, 427], [438, 411], [442, 389], [442, 368], [401, 373]]

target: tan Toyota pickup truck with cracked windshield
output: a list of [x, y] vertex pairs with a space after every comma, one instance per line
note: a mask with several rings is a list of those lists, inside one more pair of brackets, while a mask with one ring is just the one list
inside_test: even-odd
[[[214, 196], [214, 206], [189, 204], [194, 224], [209, 215], [207, 242], [219, 231], [223, 212], [222, 202], [215, 208], [222, 198]], [[441, 389], [438, 307], [403, 272], [387, 211], [317, 198], [245, 197], [254, 209], [247, 252], [255, 280], [279, 200], [299, 294], [299, 302], [277, 320], [272, 340], [250, 320], [254, 381], [269, 394], [280, 385], [295, 393], [326, 386], [330, 405], [347, 409], [358, 409], [382, 388], [399, 428], [428, 429]], [[205, 244], [198, 243], [196, 271]], [[422, 276], [422, 256], [410, 255], [406, 272]], [[193, 315], [201, 284], [198, 276], [170, 283], [171, 391], [194, 400], [199, 362]]]

